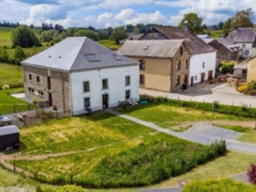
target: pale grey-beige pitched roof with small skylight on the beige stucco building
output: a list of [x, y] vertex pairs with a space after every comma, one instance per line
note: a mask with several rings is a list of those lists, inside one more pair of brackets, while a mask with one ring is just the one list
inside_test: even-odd
[[139, 40], [126, 41], [119, 54], [138, 57], [171, 58], [184, 40]]

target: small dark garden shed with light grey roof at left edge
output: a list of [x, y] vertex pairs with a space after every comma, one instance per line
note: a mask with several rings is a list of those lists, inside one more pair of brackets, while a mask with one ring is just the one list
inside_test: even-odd
[[19, 128], [17, 126], [0, 127], [0, 151], [19, 143]]

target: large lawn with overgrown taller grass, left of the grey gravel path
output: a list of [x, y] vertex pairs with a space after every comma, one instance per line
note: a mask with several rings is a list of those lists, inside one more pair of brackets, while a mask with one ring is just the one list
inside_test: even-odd
[[[106, 188], [148, 186], [225, 153], [221, 144], [191, 143], [107, 113], [20, 131], [23, 155], [31, 159], [16, 160], [16, 165], [32, 173], [38, 170], [40, 181], [58, 185], [68, 183], [73, 174], [74, 182], [86, 187], [101, 187], [102, 177]], [[42, 156], [33, 160], [33, 155]]]

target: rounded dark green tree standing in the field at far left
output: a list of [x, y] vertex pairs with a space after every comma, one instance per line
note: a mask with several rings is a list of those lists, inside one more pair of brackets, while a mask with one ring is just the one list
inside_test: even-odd
[[34, 31], [28, 26], [22, 25], [16, 28], [11, 35], [11, 40], [13, 41], [13, 48], [20, 46], [23, 48], [42, 46], [42, 43], [35, 35]]

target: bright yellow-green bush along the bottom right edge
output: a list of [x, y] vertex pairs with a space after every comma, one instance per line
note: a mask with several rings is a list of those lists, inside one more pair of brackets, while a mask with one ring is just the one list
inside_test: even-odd
[[231, 179], [193, 181], [182, 192], [256, 192], [256, 187]]

